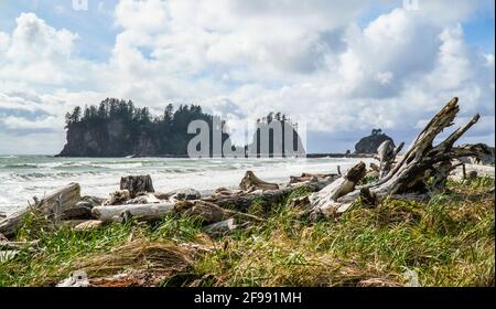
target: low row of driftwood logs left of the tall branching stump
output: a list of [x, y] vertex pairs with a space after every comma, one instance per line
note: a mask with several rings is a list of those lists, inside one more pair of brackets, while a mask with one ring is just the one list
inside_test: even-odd
[[[0, 239], [0, 249], [13, 248], [14, 243], [7, 243], [8, 238], [15, 236], [24, 217], [32, 212], [43, 215], [55, 225], [73, 226], [80, 231], [112, 222], [123, 223], [130, 219], [158, 221], [166, 215], [175, 215], [200, 217], [206, 232], [224, 233], [236, 228], [238, 222], [262, 221], [246, 213], [256, 200], [262, 200], [269, 205], [296, 188], [306, 187], [317, 191], [337, 178], [337, 174], [303, 174], [291, 178], [288, 184], [279, 185], [265, 182], [248, 171], [239, 190], [220, 188], [214, 194], [202, 196], [194, 189], [158, 193], [150, 175], [129, 175], [121, 179], [120, 190], [110, 193], [107, 199], [82, 196], [79, 184], [69, 183], [42, 200], [34, 199], [34, 204], [1, 220], [0, 235], [3, 243]], [[22, 244], [17, 244], [18, 248]]]

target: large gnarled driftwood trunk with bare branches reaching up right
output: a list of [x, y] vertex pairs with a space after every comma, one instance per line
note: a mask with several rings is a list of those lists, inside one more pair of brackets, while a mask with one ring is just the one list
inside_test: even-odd
[[[334, 192], [319, 192], [321, 193], [320, 199], [311, 201], [312, 211], [319, 212], [323, 207], [330, 209], [327, 212], [330, 214], [346, 211], [364, 190], [368, 191], [370, 195], [379, 198], [390, 194], [422, 193], [438, 190], [438, 188], [429, 188], [427, 179], [435, 174], [440, 164], [448, 164], [453, 159], [483, 157], [489, 153], [490, 150], [483, 143], [454, 146], [460, 137], [477, 122], [479, 115], [475, 115], [468, 124], [455, 130], [439, 145], [433, 146], [435, 137], [453, 125], [453, 120], [460, 110], [457, 103], [456, 97], [450, 100], [420, 132], [398, 163], [378, 182], [357, 188], [338, 198], [337, 201], [326, 196], [327, 203], [324, 204], [322, 203], [324, 196], [334, 194]], [[439, 183], [439, 180], [436, 183]], [[325, 188], [322, 191], [328, 191], [328, 189]]]

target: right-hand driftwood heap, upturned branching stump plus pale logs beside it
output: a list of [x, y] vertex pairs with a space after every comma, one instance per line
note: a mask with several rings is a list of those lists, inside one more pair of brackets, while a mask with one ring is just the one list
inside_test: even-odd
[[[459, 110], [459, 98], [455, 97], [429, 121], [402, 156], [399, 152], [403, 143], [395, 149], [390, 142], [384, 142], [378, 149], [378, 181], [357, 185], [366, 174], [365, 164], [359, 163], [342, 179], [309, 196], [306, 202], [311, 213], [314, 216], [332, 216], [347, 211], [356, 204], [354, 202], [357, 199], [360, 199], [362, 205], [374, 206], [390, 195], [428, 199], [433, 192], [445, 191], [450, 173], [463, 164], [460, 159], [484, 158], [492, 152], [484, 143], [454, 145], [477, 122], [479, 115], [475, 115], [443, 141], [433, 145], [438, 135], [453, 125]], [[431, 178], [431, 183], [428, 183]]]

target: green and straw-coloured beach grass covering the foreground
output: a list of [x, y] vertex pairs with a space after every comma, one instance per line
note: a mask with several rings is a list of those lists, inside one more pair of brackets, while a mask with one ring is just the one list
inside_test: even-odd
[[0, 262], [0, 286], [53, 286], [78, 269], [168, 269], [161, 286], [494, 286], [495, 199], [481, 194], [493, 187], [450, 181], [427, 203], [387, 199], [316, 222], [292, 205], [310, 193], [298, 190], [270, 207], [254, 203], [262, 223], [215, 237], [194, 219], [80, 232], [32, 214], [17, 241], [39, 239], [39, 249]]

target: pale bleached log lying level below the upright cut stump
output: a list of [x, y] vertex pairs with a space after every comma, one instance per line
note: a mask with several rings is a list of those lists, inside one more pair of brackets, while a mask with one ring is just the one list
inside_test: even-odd
[[159, 204], [131, 204], [96, 206], [91, 210], [93, 216], [103, 222], [119, 221], [123, 216], [136, 217], [142, 221], [153, 221], [174, 212], [174, 203], [162, 202]]

